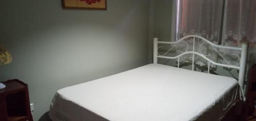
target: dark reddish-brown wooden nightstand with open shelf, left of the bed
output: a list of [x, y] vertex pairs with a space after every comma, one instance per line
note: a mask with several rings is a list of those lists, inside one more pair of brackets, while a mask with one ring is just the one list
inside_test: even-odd
[[33, 121], [28, 85], [17, 79], [2, 83], [6, 85], [6, 88], [0, 89], [0, 120]]

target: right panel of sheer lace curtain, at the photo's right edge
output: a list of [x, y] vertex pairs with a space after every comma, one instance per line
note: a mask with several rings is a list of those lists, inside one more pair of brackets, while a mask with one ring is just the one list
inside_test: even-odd
[[224, 16], [224, 45], [237, 46], [243, 41], [256, 44], [256, 1], [228, 0]]

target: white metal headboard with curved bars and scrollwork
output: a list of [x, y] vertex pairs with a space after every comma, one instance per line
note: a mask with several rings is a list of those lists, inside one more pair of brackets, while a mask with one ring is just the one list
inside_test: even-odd
[[[175, 44], [173, 47], [171, 47], [170, 50], [172, 50], [180, 42], [185, 42], [187, 44], [185, 39], [186, 38], [191, 38], [191, 37], [193, 37], [193, 51], [182, 52], [181, 54], [179, 54], [178, 56], [175, 56], [175, 57], [165, 56], [165, 54], [164, 55], [159, 55], [158, 54], [158, 49], [159, 49], [158, 43]], [[207, 56], [205, 56], [204, 54], [196, 52], [195, 51], [195, 41], [196, 41], [196, 38], [199, 38], [199, 39], [203, 40], [205, 43], [210, 44], [213, 48], [218, 47], [218, 48], [222, 48], [222, 49], [230, 49], [230, 50], [241, 51], [240, 64], [239, 65], [231, 65], [217, 50], [215, 50], [215, 51], [218, 54], [220, 54], [220, 56], [228, 64], [222, 64], [222, 63], [214, 62], [214, 61], [210, 60], [209, 58], [207, 58]], [[160, 46], [160, 47], [162, 47], [162, 46]], [[168, 53], [170, 50], [168, 50], [166, 53]], [[244, 88], [244, 81], [245, 81], [247, 51], [248, 51], [248, 43], [243, 43], [241, 48], [240, 47], [231, 47], [231, 46], [222, 46], [222, 45], [216, 45], [214, 43], [211, 43], [209, 40], [207, 40], [207, 39], [205, 39], [205, 38], [203, 38], [201, 36], [197, 36], [197, 35], [185, 36], [185, 37], [183, 37], [183, 38], [181, 38], [181, 39], [179, 39], [178, 41], [175, 41], [175, 42], [158, 41], [158, 38], [154, 38], [154, 53], [153, 53], [154, 59], [153, 59], [153, 62], [157, 63], [157, 59], [158, 58], [166, 58], [166, 59], [177, 59], [178, 58], [178, 68], [179, 68], [179, 66], [180, 66], [180, 57], [183, 56], [183, 55], [186, 55], [186, 54], [193, 54], [191, 70], [194, 70], [194, 68], [195, 68], [194, 61], [195, 61], [195, 54], [196, 54], [196, 55], [198, 55], [198, 56], [200, 56], [200, 57], [202, 57], [202, 58], [204, 58], [205, 60], [208, 61], [208, 73], [209, 73], [209, 70], [210, 70], [210, 63], [214, 64], [214, 65], [223, 66], [223, 67], [239, 69], [238, 83], [239, 83], [239, 85], [240, 85], [240, 87], [242, 89], [243, 94], [245, 94], [246, 88]]]

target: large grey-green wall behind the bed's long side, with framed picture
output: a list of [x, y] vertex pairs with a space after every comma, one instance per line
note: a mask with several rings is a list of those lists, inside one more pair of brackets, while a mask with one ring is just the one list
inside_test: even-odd
[[0, 80], [27, 83], [34, 119], [46, 120], [58, 89], [147, 64], [148, 7], [148, 0], [109, 0], [106, 11], [0, 0], [0, 43], [13, 57]]

